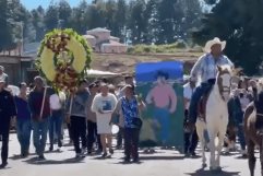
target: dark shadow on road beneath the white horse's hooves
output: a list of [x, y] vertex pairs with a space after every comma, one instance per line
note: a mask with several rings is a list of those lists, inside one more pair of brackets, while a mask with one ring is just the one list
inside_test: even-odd
[[205, 171], [203, 168], [195, 171], [195, 173], [186, 173], [190, 176], [240, 176], [240, 172], [225, 172], [225, 171], [218, 171], [218, 172], [212, 172], [212, 171]]

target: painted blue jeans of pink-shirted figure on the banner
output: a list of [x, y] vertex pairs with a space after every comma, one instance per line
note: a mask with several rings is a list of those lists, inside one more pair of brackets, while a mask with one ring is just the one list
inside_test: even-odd
[[163, 144], [169, 139], [169, 125], [170, 125], [170, 113], [168, 108], [155, 107], [154, 118], [160, 124], [160, 138]]

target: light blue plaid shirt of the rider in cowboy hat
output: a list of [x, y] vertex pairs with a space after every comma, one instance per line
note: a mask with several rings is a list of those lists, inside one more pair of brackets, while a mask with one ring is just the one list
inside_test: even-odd
[[215, 59], [211, 54], [205, 54], [199, 58], [191, 70], [191, 77], [201, 75], [201, 82], [207, 82], [210, 79], [216, 79], [217, 66], [228, 64], [234, 67], [234, 63], [224, 55]]

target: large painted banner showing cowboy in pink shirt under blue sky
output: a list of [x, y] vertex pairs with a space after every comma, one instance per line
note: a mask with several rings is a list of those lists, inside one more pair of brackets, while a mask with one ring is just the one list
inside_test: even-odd
[[136, 94], [146, 108], [142, 112], [142, 146], [183, 149], [183, 63], [162, 61], [139, 63]]

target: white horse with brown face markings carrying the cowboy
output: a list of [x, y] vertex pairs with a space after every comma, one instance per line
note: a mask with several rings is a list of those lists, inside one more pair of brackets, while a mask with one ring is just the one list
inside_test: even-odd
[[[207, 146], [211, 152], [210, 169], [220, 171], [220, 152], [228, 125], [227, 102], [230, 97], [231, 68], [220, 66], [205, 107], [205, 119], [198, 118], [196, 132], [201, 141], [203, 167], [206, 167], [205, 132], [207, 132]], [[217, 151], [217, 155], [216, 155]]]

